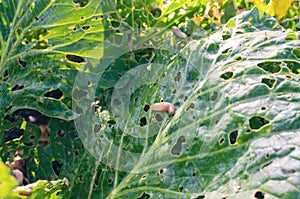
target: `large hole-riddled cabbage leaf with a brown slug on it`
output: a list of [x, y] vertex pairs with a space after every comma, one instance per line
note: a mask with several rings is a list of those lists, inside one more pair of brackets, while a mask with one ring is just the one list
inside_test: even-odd
[[[167, 62], [158, 56], [161, 64], [129, 70], [109, 111], [100, 104], [76, 120], [86, 148], [107, 165], [95, 169], [101, 183], [91, 181], [92, 198], [300, 193], [300, 85], [289, 67], [299, 64], [292, 52], [300, 42], [257, 9], [231, 20], [234, 28], [190, 41]], [[162, 99], [176, 106], [174, 116], [149, 110]]]

